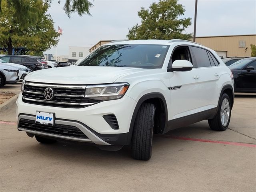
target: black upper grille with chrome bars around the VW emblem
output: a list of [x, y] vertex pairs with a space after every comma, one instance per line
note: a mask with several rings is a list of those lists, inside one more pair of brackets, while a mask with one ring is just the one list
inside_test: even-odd
[[[44, 91], [48, 87], [52, 88], [54, 92], [51, 100], [47, 100], [44, 96]], [[100, 102], [99, 100], [85, 98], [85, 88], [86, 86], [79, 85], [26, 82], [22, 99], [26, 103], [66, 108], [83, 108]]]

